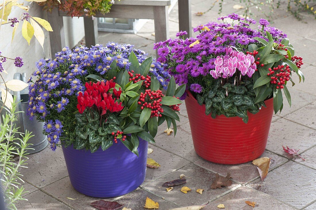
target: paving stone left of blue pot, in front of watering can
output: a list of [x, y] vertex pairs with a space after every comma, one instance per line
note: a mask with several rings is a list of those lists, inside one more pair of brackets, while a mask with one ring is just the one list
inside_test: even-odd
[[23, 179], [37, 187], [44, 187], [68, 175], [62, 148], [55, 152], [46, 147], [38, 153], [27, 155], [27, 167], [22, 168]]

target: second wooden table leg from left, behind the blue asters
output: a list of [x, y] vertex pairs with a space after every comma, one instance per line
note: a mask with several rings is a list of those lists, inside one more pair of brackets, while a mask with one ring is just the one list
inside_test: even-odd
[[91, 17], [84, 17], [84, 33], [86, 46], [91, 47], [98, 43], [98, 19], [92, 20]]

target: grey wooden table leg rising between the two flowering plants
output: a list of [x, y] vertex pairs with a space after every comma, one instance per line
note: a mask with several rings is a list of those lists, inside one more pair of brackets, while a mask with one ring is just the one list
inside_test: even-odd
[[[169, 13], [168, 6], [154, 7], [155, 41], [165, 41], [169, 39]], [[156, 51], [157, 55], [157, 51]]]

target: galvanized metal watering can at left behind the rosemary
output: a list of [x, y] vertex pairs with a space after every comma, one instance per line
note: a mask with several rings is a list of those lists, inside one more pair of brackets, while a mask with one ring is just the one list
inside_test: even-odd
[[[21, 80], [21, 81], [26, 82], [25, 73], [23, 74], [15, 73], [13, 78], [15, 80]], [[30, 120], [29, 116], [26, 115], [27, 105], [28, 105], [28, 88], [26, 87], [25, 89], [21, 91], [14, 91], [13, 97], [16, 99], [16, 101], [19, 101], [16, 107], [17, 108], [16, 111], [23, 111], [21, 113], [18, 113], [18, 116], [17, 116], [16, 126], [19, 127], [18, 131], [21, 133], [25, 133], [25, 130], [28, 130], [32, 132], [32, 135], [34, 135], [28, 141], [28, 143], [32, 144], [28, 148], [33, 148], [33, 149], [29, 149], [27, 152], [29, 154], [40, 152], [47, 146], [48, 141], [47, 141], [46, 135], [43, 135], [42, 133], [44, 123], [37, 122], [36, 119]], [[2, 101], [1, 101], [1, 106], [3, 106]], [[6, 111], [6, 110], [3, 109], [3, 111]]]

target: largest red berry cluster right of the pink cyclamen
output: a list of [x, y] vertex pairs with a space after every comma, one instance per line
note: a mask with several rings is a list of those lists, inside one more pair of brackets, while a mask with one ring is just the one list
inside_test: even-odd
[[276, 89], [283, 89], [285, 81], [290, 80], [290, 67], [286, 66], [285, 69], [283, 68], [284, 65], [278, 65], [278, 67], [274, 67], [273, 70], [269, 68], [270, 73], [268, 73], [268, 76], [271, 76], [271, 83], [276, 84]]

